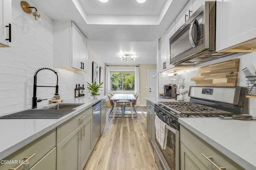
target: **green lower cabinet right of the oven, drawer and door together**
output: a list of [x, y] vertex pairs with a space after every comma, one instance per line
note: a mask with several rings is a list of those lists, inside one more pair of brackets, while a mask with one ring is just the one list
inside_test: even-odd
[[[218, 168], [217, 168], [218, 167]], [[180, 126], [180, 170], [244, 170], [200, 137]]]

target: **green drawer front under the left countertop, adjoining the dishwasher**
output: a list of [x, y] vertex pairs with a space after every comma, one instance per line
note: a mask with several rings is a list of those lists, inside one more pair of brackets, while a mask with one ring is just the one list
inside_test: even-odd
[[82, 111], [72, 119], [62, 123], [57, 127], [57, 144], [67, 137], [74, 129], [76, 129], [83, 121], [92, 115], [92, 107]]

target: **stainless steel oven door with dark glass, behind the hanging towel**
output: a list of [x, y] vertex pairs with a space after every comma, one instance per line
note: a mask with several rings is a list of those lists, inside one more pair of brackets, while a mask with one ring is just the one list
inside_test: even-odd
[[156, 147], [158, 156], [160, 156], [160, 160], [158, 158], [155, 158], [156, 164], [159, 170], [161, 170], [161, 168], [162, 170], [179, 170], [180, 169], [180, 131], [168, 125], [166, 125], [166, 128], [167, 128], [166, 149], [161, 148], [155, 135], [155, 142], [156, 142], [155, 147]]

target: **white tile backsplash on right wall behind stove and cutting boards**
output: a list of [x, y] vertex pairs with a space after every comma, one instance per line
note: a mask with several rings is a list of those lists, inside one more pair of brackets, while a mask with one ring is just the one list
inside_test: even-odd
[[[210, 61], [210, 62], [207, 62], [207, 63], [204, 63], [204, 64], [200, 64], [199, 66], [197, 66], [195, 68], [190, 68], [190, 69], [187, 69], [187, 70], [177, 72], [178, 73], [177, 80], [168, 80], [167, 81], [166, 80], [166, 79], [168, 79], [167, 74], [166, 73], [160, 73], [159, 78], [162, 79], [162, 80], [159, 80], [159, 92], [163, 91], [163, 86], [162, 86], [163, 83], [168, 82], [168, 83], [177, 84], [178, 81], [182, 78], [186, 79], [186, 89], [189, 89], [190, 86], [196, 86], [196, 83], [194, 81], [190, 81], [190, 78], [196, 76], [198, 67], [203, 66], [203, 65], [213, 64], [213, 63], [219, 63], [219, 62], [227, 61], [227, 60], [231, 60], [231, 59], [236, 59], [236, 58], [240, 59], [237, 86], [247, 87], [247, 84], [246, 84], [247, 79], [245, 78], [245, 76], [242, 72], [242, 69], [247, 67], [252, 72], [256, 71], [256, 68], [254, 67], [254, 65], [256, 66], [255, 55], [256, 55], [256, 52], [240, 53], [240, 54], [235, 54], [235, 55], [232, 55], [232, 56], [224, 57], [224, 58], [221, 58], [221, 59], [217, 59], [217, 60], [214, 60], [214, 61]], [[187, 96], [188, 96], [188, 94], [186, 94], [186, 97]], [[225, 96], [223, 96], [223, 97], [225, 97]], [[250, 115], [256, 116], [256, 99], [255, 98], [248, 99], [248, 108], [249, 108]]]

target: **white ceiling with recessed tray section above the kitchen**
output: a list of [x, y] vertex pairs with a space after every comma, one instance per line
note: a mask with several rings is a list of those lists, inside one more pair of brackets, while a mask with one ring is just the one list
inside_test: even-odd
[[[128, 64], [156, 64], [157, 40], [188, 0], [33, 0], [52, 20], [72, 20], [104, 63], [124, 64], [118, 55], [134, 53]], [[30, 4], [31, 5], [31, 4]], [[42, 15], [43, 18], [43, 15]], [[125, 55], [125, 54], [123, 54]], [[121, 55], [120, 55], [121, 56]]]

